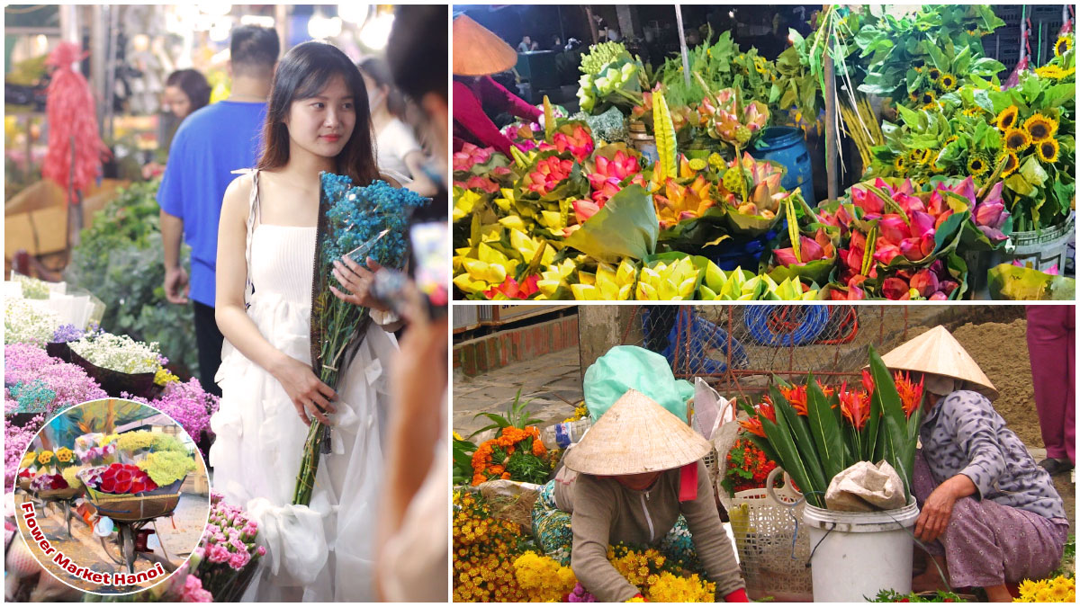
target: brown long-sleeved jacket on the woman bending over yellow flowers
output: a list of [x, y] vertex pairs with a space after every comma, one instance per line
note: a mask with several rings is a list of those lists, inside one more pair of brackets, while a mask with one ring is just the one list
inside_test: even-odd
[[570, 567], [597, 601], [624, 602], [640, 592], [607, 559], [608, 544], [656, 545], [675, 526], [679, 514], [686, 517], [705, 577], [716, 582], [716, 594], [723, 597], [744, 588], [734, 547], [716, 511], [705, 464], [698, 462], [697, 499], [680, 503], [678, 488], [678, 469], [664, 471], [652, 488], [644, 491], [591, 474], [579, 474], [569, 484], [555, 482], [556, 505], [571, 513]]

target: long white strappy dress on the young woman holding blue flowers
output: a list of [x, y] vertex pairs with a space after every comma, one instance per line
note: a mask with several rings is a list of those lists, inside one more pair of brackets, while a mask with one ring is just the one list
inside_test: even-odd
[[[310, 364], [316, 229], [260, 224], [252, 175], [247, 315], [274, 348]], [[341, 374], [333, 453], [321, 458], [309, 508], [292, 505], [308, 427], [278, 380], [225, 341], [215, 377], [221, 404], [211, 418], [213, 488], [258, 522], [267, 548], [243, 601], [374, 599], [387, 364], [396, 351], [393, 334], [370, 323]]]

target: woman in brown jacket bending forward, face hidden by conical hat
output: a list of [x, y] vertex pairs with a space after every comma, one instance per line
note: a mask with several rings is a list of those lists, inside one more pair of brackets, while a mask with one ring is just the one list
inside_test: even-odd
[[[746, 602], [745, 584], [716, 510], [702, 458], [711, 445], [656, 401], [629, 390], [565, 458], [534, 510], [544, 552], [570, 567], [597, 601], [640, 596], [608, 561], [608, 545], [697, 558], [716, 595]], [[567, 469], [571, 471], [567, 474]], [[569, 523], [569, 529], [567, 529]]]

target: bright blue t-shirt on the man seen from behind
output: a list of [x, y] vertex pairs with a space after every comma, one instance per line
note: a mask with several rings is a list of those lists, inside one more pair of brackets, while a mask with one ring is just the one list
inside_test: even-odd
[[173, 137], [158, 189], [162, 211], [184, 219], [191, 246], [190, 297], [214, 306], [217, 224], [232, 171], [255, 166], [266, 104], [218, 102], [187, 117]]

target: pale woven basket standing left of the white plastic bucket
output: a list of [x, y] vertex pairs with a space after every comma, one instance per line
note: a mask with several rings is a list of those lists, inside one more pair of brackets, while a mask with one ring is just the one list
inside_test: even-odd
[[[771, 487], [780, 468], [769, 473], [766, 487]], [[810, 576], [810, 535], [798, 528], [801, 496], [792, 488], [784, 475], [784, 487], [737, 491], [730, 498], [728, 515], [739, 549], [739, 566], [746, 581], [746, 593], [753, 599], [771, 596], [778, 602], [813, 601]], [[779, 503], [783, 502], [783, 504]]]

